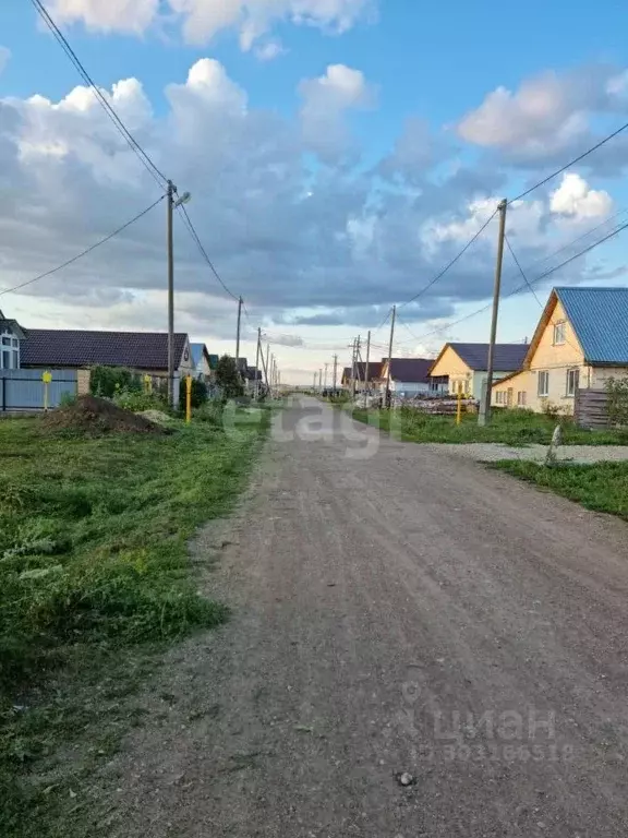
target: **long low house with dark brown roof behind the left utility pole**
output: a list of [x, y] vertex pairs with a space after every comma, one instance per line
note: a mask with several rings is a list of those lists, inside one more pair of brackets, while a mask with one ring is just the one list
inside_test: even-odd
[[[20, 340], [24, 369], [78, 371], [78, 393], [89, 390], [89, 368], [125, 367], [156, 379], [168, 378], [168, 335], [164, 332], [87, 332], [28, 328]], [[194, 368], [188, 335], [174, 335], [174, 370], [186, 375]]]

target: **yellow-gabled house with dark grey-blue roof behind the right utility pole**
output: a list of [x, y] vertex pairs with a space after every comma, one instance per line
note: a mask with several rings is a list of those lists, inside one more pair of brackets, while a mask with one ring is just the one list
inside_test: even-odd
[[[493, 380], [521, 369], [528, 344], [495, 344], [493, 356]], [[448, 381], [445, 392], [452, 395], [462, 390], [476, 400], [482, 398], [482, 387], [486, 382], [488, 366], [488, 344], [445, 344], [440, 354], [432, 362], [430, 375]]]

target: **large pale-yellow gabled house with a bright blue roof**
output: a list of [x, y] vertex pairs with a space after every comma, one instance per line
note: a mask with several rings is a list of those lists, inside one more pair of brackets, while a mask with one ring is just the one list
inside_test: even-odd
[[517, 372], [492, 403], [573, 412], [576, 391], [628, 376], [628, 288], [554, 288]]

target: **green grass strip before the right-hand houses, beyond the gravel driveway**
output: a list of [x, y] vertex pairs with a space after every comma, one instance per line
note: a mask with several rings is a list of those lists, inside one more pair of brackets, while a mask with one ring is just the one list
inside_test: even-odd
[[397, 410], [354, 409], [353, 418], [391, 432], [404, 442], [500, 442], [507, 445], [547, 445], [558, 421], [565, 445], [628, 445], [626, 431], [585, 431], [569, 419], [552, 419], [531, 410], [494, 411], [490, 426], [481, 428], [475, 415], [430, 416], [412, 408]]

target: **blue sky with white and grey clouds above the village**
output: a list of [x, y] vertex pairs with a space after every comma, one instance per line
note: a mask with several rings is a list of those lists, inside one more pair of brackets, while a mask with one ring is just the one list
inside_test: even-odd
[[[530, 280], [628, 222], [628, 7], [530, 0], [46, 0], [89, 75], [188, 205], [282, 381], [353, 337], [434, 356], [488, 339], [502, 197]], [[428, 11], [426, 11], [430, 7]], [[162, 194], [34, 5], [0, 7], [0, 308], [25, 327], [167, 327]], [[498, 339], [530, 337], [553, 285], [626, 284], [628, 231], [526, 291], [505, 254]], [[176, 213], [176, 328], [234, 352], [237, 302]], [[428, 286], [428, 287], [427, 287]], [[413, 302], [408, 302], [416, 297]]]

